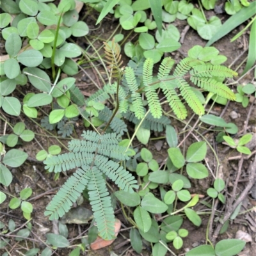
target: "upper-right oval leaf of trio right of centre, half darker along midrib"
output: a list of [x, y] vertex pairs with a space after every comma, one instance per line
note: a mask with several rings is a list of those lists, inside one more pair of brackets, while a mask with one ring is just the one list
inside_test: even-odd
[[191, 144], [188, 148], [186, 161], [199, 162], [204, 159], [207, 153], [207, 147], [205, 141], [199, 141]]

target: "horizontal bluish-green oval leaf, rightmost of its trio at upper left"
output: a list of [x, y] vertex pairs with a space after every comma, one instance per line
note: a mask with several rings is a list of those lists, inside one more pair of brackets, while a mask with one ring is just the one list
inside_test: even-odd
[[31, 49], [20, 53], [17, 60], [26, 67], [36, 67], [42, 63], [43, 56], [40, 51]]

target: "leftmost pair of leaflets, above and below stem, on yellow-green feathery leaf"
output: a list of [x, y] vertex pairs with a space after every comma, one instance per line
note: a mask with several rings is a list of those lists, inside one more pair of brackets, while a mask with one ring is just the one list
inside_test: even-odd
[[141, 119], [145, 116], [145, 111], [143, 108], [143, 102], [140, 93], [137, 92], [138, 84], [134, 75], [134, 71], [131, 67], [125, 68], [125, 79], [131, 91], [132, 106], [134, 107], [135, 116]]

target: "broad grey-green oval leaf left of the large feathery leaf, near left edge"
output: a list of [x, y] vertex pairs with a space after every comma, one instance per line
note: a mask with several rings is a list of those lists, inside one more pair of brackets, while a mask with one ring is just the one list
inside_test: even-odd
[[11, 149], [4, 156], [3, 163], [15, 168], [23, 164], [26, 161], [27, 157], [27, 153], [18, 149]]

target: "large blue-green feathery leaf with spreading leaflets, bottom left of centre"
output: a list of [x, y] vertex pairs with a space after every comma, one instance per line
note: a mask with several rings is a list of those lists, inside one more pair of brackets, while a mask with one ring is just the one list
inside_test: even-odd
[[44, 161], [45, 169], [49, 172], [77, 168], [52, 198], [45, 215], [50, 215], [50, 220], [57, 220], [70, 210], [73, 202], [87, 188], [99, 236], [113, 239], [115, 216], [104, 175], [130, 193], [138, 188], [137, 181], [119, 163], [109, 159], [129, 159], [126, 148], [118, 145], [119, 138], [115, 133], [100, 135], [86, 131], [83, 132], [83, 138], [70, 141], [68, 148], [71, 152], [47, 157]]

